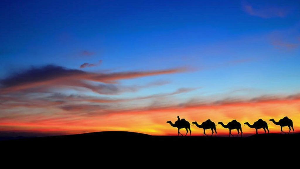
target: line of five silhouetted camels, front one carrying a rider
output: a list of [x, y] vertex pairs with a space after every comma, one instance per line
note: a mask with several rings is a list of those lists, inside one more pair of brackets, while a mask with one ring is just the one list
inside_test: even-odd
[[[175, 128], [178, 128], [178, 136], [179, 134], [182, 135], [179, 131], [181, 128], [185, 128], [187, 133], [188, 133], [188, 130], [190, 131], [190, 134], [192, 133], [192, 131], [190, 130], [190, 123], [188, 121], [186, 121], [184, 118], [183, 119], [180, 119], [179, 116], [177, 116], [178, 120], [173, 124], [171, 121], [167, 121], [167, 123], [169, 123], [172, 127], [175, 127]], [[294, 133], [294, 128], [293, 128], [293, 121], [291, 119], [289, 119], [288, 117], [284, 117], [282, 119], [280, 119], [278, 122], [276, 122], [273, 118], [270, 119], [270, 121], [272, 121], [274, 124], [276, 125], [279, 125], [280, 126], [280, 134], [281, 133], [284, 133], [286, 134], [284, 131], [282, 131], [282, 127], [284, 126], [288, 126], [289, 127], [289, 132], [288, 134], [290, 133], [291, 131], [291, 127], [292, 127], [292, 133]], [[212, 122], [210, 119], [204, 121], [202, 124], [198, 124], [196, 121], [193, 122], [193, 124], [195, 124], [198, 128], [203, 128], [203, 136], [206, 135], [208, 136], [207, 134], [205, 134], [205, 130], [206, 129], [211, 129], [211, 136], [215, 133], [215, 136], [217, 136], [217, 131], [216, 131], [216, 124], [214, 124], [214, 122]], [[240, 122], [236, 121], [236, 120], [232, 120], [230, 121], [229, 123], [227, 123], [227, 125], [225, 125], [222, 121], [221, 122], [218, 122], [218, 125], [221, 124], [221, 126], [223, 128], [228, 128], [229, 129], [229, 137], [230, 135], [233, 136], [231, 134], [231, 130], [234, 130], [236, 129], [238, 131], [238, 135], [240, 134], [241, 132], [241, 137], [243, 136], [243, 131], [242, 131], [242, 125]], [[257, 130], [262, 128], [265, 133], [266, 133], [266, 129], [269, 133], [269, 129], [268, 129], [268, 124], [267, 122], [263, 121], [261, 118], [258, 119], [257, 121], [255, 121], [252, 125], [249, 124], [248, 122], [245, 122], [244, 123], [245, 125], [249, 126], [250, 128], [255, 128], [256, 130], [256, 134], [257, 133]], [[187, 130], [188, 129], [188, 130]], [[187, 133], [185, 134], [185, 136], [187, 135]], [[237, 135], [237, 137], [238, 137]], [[183, 135], [182, 135], [183, 136]], [[234, 137], [234, 136], [233, 136]]]

